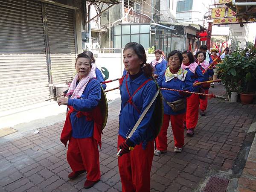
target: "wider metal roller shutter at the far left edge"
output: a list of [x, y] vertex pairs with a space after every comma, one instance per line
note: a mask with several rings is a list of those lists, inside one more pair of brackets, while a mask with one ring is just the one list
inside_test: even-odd
[[0, 111], [49, 98], [41, 3], [0, 0]]

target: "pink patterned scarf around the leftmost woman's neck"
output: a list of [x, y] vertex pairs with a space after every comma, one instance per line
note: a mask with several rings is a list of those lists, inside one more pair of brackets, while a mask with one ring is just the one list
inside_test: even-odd
[[79, 81], [77, 86], [76, 86], [76, 82], [79, 79], [79, 75], [76, 74], [67, 91], [67, 96], [71, 95], [70, 99], [76, 99], [81, 97], [90, 79], [96, 78], [95, 70], [96, 70], [96, 65], [92, 63], [92, 68], [90, 70], [90, 73], [87, 76], [83, 77], [81, 81]]

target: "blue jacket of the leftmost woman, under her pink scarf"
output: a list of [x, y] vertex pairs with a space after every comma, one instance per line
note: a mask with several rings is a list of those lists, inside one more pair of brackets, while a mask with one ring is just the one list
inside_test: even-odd
[[[96, 108], [96, 106], [99, 104], [100, 98], [101, 85], [97, 79], [91, 79], [85, 87], [81, 99], [68, 99], [67, 105], [72, 106], [76, 111], [89, 112]], [[72, 137], [93, 137], [94, 122], [87, 121], [86, 117], [84, 116], [78, 118], [76, 116], [76, 111], [70, 114]]]

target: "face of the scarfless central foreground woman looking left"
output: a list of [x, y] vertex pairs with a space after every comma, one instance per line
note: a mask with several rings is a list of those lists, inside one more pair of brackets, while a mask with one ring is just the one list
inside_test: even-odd
[[140, 71], [140, 65], [143, 64], [143, 60], [138, 57], [133, 49], [125, 49], [123, 63], [125, 65], [125, 70], [133, 75]]

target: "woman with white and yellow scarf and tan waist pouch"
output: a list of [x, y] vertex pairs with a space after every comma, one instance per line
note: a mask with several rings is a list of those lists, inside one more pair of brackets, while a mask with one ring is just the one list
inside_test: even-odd
[[[180, 90], [180, 92], [162, 90], [163, 95], [163, 126], [156, 138], [157, 149], [155, 155], [167, 152], [167, 129], [169, 122], [172, 124], [174, 138], [174, 151], [180, 153], [184, 145], [184, 128], [183, 119], [185, 116], [186, 93], [184, 90], [193, 91], [192, 81], [187, 75], [187, 70], [183, 70], [180, 65], [182, 55], [179, 51], [174, 50], [167, 56], [169, 67], [163, 71], [157, 79], [160, 87]], [[176, 107], [178, 106], [178, 107]]]

